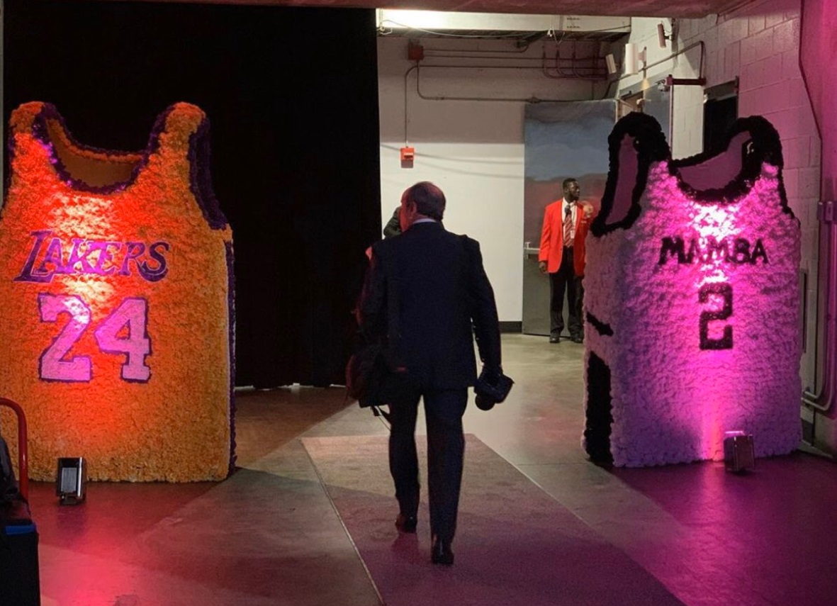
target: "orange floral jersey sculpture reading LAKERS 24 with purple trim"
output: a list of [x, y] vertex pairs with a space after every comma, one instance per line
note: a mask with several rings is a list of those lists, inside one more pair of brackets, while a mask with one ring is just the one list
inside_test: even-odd
[[[157, 119], [145, 151], [69, 135], [52, 105], [12, 114], [0, 211], [0, 396], [23, 406], [29, 475], [83, 456], [91, 480], [220, 480], [234, 460], [232, 231], [208, 120]], [[13, 418], [3, 435], [14, 442]]]

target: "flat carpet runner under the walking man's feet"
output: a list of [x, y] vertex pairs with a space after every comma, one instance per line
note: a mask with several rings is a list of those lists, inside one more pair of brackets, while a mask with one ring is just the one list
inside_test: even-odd
[[466, 440], [450, 568], [430, 563], [424, 436], [417, 436], [424, 501], [419, 531], [400, 537], [385, 436], [302, 440], [384, 603], [680, 604], [500, 455], [473, 435]]

